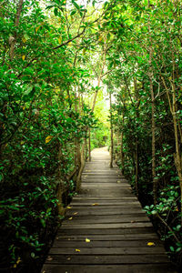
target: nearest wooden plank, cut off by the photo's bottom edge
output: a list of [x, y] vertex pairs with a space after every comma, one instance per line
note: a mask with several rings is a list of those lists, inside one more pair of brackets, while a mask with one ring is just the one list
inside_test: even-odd
[[[132, 258], [131, 258], [132, 259]], [[42, 273], [177, 273], [170, 264], [147, 265], [45, 265]]]

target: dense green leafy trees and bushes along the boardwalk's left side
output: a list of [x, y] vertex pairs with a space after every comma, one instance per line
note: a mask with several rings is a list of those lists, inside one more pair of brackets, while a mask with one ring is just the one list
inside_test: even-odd
[[39, 1], [1, 7], [1, 267], [16, 268], [50, 239], [57, 206], [66, 207], [76, 189], [70, 177], [96, 118], [83, 100], [89, 72], [74, 65], [76, 49], [61, 44], [70, 39], [65, 17], [56, 8], [46, 14]]

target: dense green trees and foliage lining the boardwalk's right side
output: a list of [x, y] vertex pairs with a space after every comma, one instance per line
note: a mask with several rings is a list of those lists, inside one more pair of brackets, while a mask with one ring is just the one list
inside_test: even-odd
[[[116, 6], [106, 80], [116, 158], [155, 220], [167, 250], [181, 260], [181, 4], [137, 1]], [[129, 15], [128, 15], [129, 13]], [[122, 14], [122, 19], [121, 19]], [[113, 20], [112, 17], [109, 18]]]

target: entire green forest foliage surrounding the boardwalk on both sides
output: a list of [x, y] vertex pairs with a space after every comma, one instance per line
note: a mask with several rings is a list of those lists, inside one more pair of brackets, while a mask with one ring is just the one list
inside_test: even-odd
[[106, 91], [117, 164], [180, 261], [181, 12], [179, 0], [0, 2], [1, 268], [41, 256], [90, 150], [110, 146]]

